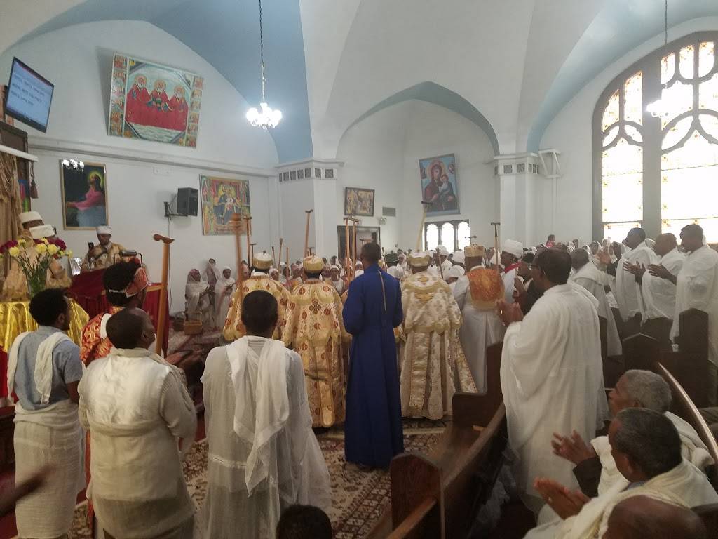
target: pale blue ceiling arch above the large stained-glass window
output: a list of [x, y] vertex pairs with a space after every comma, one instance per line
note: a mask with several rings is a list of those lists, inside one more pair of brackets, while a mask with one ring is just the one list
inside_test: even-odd
[[[668, 0], [670, 28], [718, 15], [718, 0]], [[526, 150], [536, 152], [546, 128], [561, 109], [596, 75], [631, 49], [663, 33], [660, 0], [607, 0], [561, 66], [528, 132]]]

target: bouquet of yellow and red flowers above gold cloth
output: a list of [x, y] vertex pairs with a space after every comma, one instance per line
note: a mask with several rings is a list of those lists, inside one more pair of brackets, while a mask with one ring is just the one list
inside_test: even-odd
[[73, 252], [67, 250], [61, 239], [19, 239], [8, 241], [0, 246], [0, 254], [17, 261], [20, 270], [27, 280], [27, 291], [30, 298], [37, 292], [45, 290], [47, 270], [53, 260], [71, 257]]

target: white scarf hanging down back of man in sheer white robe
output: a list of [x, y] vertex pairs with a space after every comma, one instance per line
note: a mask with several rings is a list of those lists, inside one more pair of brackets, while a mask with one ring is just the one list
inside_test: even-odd
[[251, 446], [246, 461], [248, 494], [269, 475], [270, 443], [289, 419], [284, 344], [268, 339], [259, 355], [242, 337], [227, 346], [232, 384], [236, 391], [234, 431]]

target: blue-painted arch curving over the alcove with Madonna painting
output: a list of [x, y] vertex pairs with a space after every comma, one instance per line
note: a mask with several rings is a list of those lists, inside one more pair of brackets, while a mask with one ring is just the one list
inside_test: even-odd
[[371, 116], [382, 109], [386, 109], [389, 106], [401, 103], [402, 101], [409, 101], [410, 99], [434, 103], [434, 105], [442, 106], [444, 109], [454, 111], [456, 114], [471, 120], [489, 137], [494, 155], [499, 155], [498, 137], [496, 137], [493, 126], [490, 124], [488, 119], [486, 119], [486, 117], [481, 114], [475, 106], [473, 106], [465, 98], [462, 98], [462, 96], [458, 93], [431, 81], [424, 81], [423, 83], [406, 88], [405, 90], [399, 91], [393, 94], [393, 96], [389, 96], [383, 101], [377, 103], [371, 109], [355, 119], [355, 121], [353, 121], [347, 128], [347, 131], [368, 116]]

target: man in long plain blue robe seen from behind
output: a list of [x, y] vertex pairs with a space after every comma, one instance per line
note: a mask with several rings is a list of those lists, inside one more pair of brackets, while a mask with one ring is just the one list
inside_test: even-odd
[[344, 326], [351, 333], [347, 413], [347, 462], [387, 468], [404, 451], [401, 395], [393, 328], [401, 325], [401, 287], [378, 267], [381, 248], [364, 244], [364, 274], [349, 288]]

